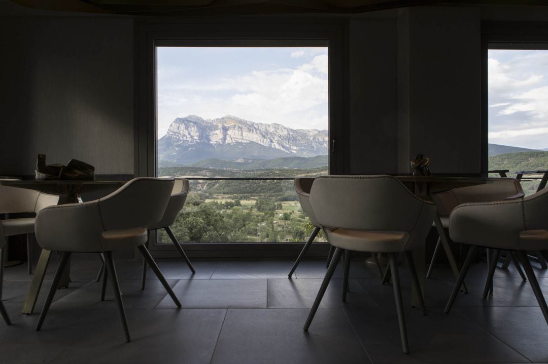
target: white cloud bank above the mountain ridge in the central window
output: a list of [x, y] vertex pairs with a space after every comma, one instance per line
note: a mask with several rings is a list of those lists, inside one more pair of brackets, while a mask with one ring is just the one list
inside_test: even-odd
[[[327, 129], [328, 58], [318, 55], [295, 68], [252, 71], [233, 78], [158, 87], [158, 137], [177, 117], [230, 114], [291, 128]], [[162, 87], [160, 87], [162, 86]]]

